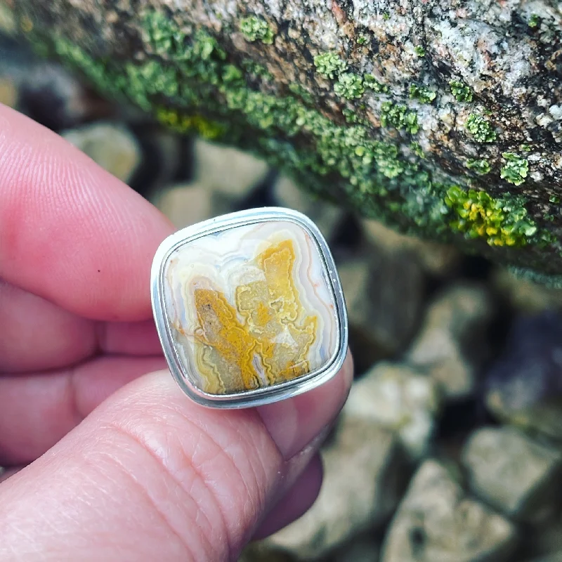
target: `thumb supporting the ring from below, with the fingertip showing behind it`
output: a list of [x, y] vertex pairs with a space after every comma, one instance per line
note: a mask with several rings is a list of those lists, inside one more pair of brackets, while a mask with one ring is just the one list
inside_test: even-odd
[[315, 499], [352, 370], [249, 410], [192, 403], [169, 372], [133, 381], [0, 485], [0, 559], [236, 559]]

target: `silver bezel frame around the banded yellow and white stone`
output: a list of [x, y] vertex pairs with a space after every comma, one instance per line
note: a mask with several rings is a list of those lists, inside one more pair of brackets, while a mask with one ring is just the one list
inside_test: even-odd
[[[166, 320], [163, 289], [166, 263], [172, 252], [197, 238], [229, 228], [266, 221], [289, 221], [296, 223], [296, 225], [306, 230], [308, 235], [311, 236], [311, 239], [316, 242], [323, 265], [325, 266], [326, 281], [329, 289], [332, 291], [334, 303], [336, 305], [335, 320], [338, 325], [338, 344], [336, 345], [336, 351], [320, 369], [292, 381], [235, 394], [214, 395], [205, 393], [191, 383], [188, 373], [185, 371], [185, 367], [179, 360], [174, 339], [170, 332], [171, 328], [169, 322]], [[174, 376], [174, 379], [176, 379], [176, 382], [183, 392], [201, 405], [219, 408], [244, 408], [285, 400], [286, 398], [291, 398], [292, 396], [310, 391], [320, 386], [320, 384], [324, 384], [334, 377], [334, 374], [340, 370], [341, 365], [344, 363], [348, 346], [347, 312], [344, 292], [341, 289], [341, 282], [336, 270], [334, 258], [332, 257], [332, 253], [329, 250], [325, 238], [322, 236], [322, 233], [320, 233], [315, 223], [298, 211], [281, 207], [249, 209], [247, 211], [238, 211], [211, 218], [208, 221], [202, 221], [201, 223], [178, 230], [178, 232], [167, 237], [156, 251], [154, 261], [152, 262], [150, 288], [152, 312], [154, 314], [160, 343], [164, 351], [164, 357], [168, 362], [171, 374]]]

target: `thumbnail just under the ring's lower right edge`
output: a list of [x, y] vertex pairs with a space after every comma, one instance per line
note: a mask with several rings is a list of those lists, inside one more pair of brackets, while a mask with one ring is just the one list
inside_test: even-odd
[[303, 450], [333, 423], [346, 401], [352, 380], [353, 360], [348, 353], [332, 380], [300, 396], [257, 408], [285, 460]]

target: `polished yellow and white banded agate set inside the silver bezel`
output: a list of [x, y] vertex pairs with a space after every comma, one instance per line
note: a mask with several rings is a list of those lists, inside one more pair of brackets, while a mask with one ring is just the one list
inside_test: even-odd
[[191, 384], [212, 395], [305, 377], [339, 350], [322, 254], [292, 221], [234, 226], [185, 242], [164, 265], [164, 307]]

